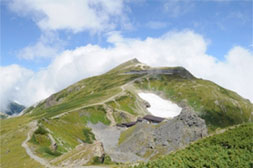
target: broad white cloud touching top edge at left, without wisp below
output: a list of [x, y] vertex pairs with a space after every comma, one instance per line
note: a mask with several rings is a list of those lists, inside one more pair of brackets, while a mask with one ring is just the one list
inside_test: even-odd
[[10, 9], [32, 17], [44, 30], [101, 32], [113, 29], [124, 15], [123, 0], [11, 0]]

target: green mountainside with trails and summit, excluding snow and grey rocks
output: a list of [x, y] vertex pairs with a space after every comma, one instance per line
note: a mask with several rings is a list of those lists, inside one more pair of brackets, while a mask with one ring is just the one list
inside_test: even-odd
[[80, 157], [92, 163], [99, 155], [94, 150], [103, 145], [88, 124], [113, 128], [146, 115], [139, 90], [193, 107], [210, 132], [252, 118], [253, 105], [237, 93], [198, 79], [182, 67], [151, 68], [134, 59], [51, 95], [27, 108], [23, 116], [2, 119], [0, 167], [39, 167], [22, 144], [46, 164], [62, 167], [65, 162], [81, 162]]

